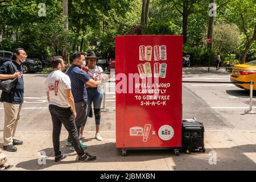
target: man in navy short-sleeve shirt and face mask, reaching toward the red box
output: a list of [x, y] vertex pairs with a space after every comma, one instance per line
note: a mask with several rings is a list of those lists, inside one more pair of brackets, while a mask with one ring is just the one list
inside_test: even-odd
[[[87, 92], [85, 83], [97, 87], [101, 84], [100, 81], [94, 81], [88, 76], [88, 73], [83, 71], [81, 68], [85, 66], [85, 55], [82, 52], [73, 53], [73, 65], [68, 69], [66, 74], [71, 80], [71, 91], [75, 100], [75, 108], [77, 117], [75, 119], [77, 132], [80, 133], [82, 123], [84, 123], [87, 114]], [[68, 137], [67, 146], [71, 146], [73, 149], [71, 136]], [[83, 147], [83, 146], [82, 146]], [[85, 148], [85, 147], [84, 147]]]

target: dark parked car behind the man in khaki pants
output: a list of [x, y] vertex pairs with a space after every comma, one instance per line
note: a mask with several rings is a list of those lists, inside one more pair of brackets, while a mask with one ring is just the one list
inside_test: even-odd
[[[10, 51], [0, 51], [0, 66], [9, 61], [13, 53]], [[34, 73], [43, 69], [42, 62], [34, 61], [32, 59], [26, 59], [26, 61], [22, 64], [23, 73]]]

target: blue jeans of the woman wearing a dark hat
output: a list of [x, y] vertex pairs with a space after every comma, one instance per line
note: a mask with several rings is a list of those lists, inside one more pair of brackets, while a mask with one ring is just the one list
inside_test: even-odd
[[[86, 118], [84, 123], [82, 123], [82, 126], [85, 126], [88, 115], [90, 113], [90, 109], [92, 109], [92, 104], [94, 109], [101, 109], [101, 102], [102, 102], [102, 89], [101, 88], [87, 88], [87, 103], [88, 103], [88, 110], [86, 114]], [[95, 114], [94, 114], [95, 115]], [[96, 125], [100, 125], [101, 120], [95, 118]]]

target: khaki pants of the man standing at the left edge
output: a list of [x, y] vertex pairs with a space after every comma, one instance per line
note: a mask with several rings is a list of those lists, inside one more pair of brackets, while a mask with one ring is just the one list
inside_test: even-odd
[[5, 126], [3, 128], [3, 145], [13, 144], [14, 134], [20, 118], [22, 104], [11, 104], [3, 102], [5, 109]]

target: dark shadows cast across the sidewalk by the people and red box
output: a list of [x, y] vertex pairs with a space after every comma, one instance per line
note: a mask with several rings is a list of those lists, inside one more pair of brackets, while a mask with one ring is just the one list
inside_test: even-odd
[[[49, 155], [52, 159], [46, 159], [45, 165], [39, 165], [38, 159], [32, 159], [28, 161], [21, 162], [16, 165], [16, 168], [22, 168], [27, 170], [38, 170], [47, 169], [52, 166], [57, 166], [59, 164], [76, 164], [76, 160], [70, 160], [69, 158], [56, 163], [53, 159], [52, 148], [43, 149], [46, 151], [47, 156]], [[63, 151], [67, 152], [68, 147], [64, 147]], [[209, 164], [210, 155], [209, 152], [214, 151], [216, 153], [216, 164]], [[242, 146], [236, 146], [231, 148], [207, 148], [206, 152], [191, 152], [191, 154], [181, 153], [176, 156], [172, 150], [127, 150], [127, 156], [122, 156], [121, 151], [115, 148], [115, 143], [105, 143], [97, 144], [88, 147], [91, 155], [96, 155], [97, 160], [90, 163], [120, 163], [134, 162], [134, 164], [139, 162], [148, 162], [154, 166], [154, 160], [164, 159], [163, 165], [167, 165], [170, 170], [255, 170], [256, 169], [256, 145], [247, 144]], [[70, 154], [71, 152], [69, 152]], [[249, 155], [246, 155], [249, 154]], [[254, 153], [254, 154], [253, 154]], [[250, 154], [253, 154], [254, 159], [250, 159]], [[73, 152], [71, 155], [76, 155]], [[71, 156], [69, 155], [69, 156]], [[48, 156], [48, 157], [49, 157]], [[172, 161], [171, 163], [170, 160]], [[212, 160], [211, 160], [212, 161]], [[159, 164], [159, 163], [158, 163]], [[112, 164], [113, 165], [113, 164]], [[71, 170], [79, 167], [71, 167]], [[131, 170], [133, 170], [131, 168]]]

